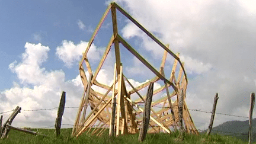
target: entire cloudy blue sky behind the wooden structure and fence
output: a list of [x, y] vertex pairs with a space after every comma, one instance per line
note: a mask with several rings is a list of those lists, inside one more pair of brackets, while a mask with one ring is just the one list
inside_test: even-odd
[[[256, 89], [255, 1], [117, 0], [133, 18], [180, 53], [188, 75], [185, 101], [193, 110], [212, 111], [218, 92], [213, 126], [247, 120], [249, 96]], [[18, 127], [50, 127], [56, 119], [62, 91], [66, 91], [63, 124], [73, 124], [82, 97], [78, 71], [82, 52], [110, 1], [1, 1], [0, 0], [0, 113], [19, 105], [13, 121]], [[110, 15], [108, 15], [110, 16]], [[161, 62], [155, 43], [117, 12], [119, 33], [152, 65]], [[112, 33], [107, 17], [88, 58], [92, 69], [101, 59]], [[109, 61], [113, 61], [110, 52]], [[127, 52], [121, 51], [124, 73], [141, 84], [152, 75]], [[151, 59], [151, 57], [153, 57]], [[100, 81], [110, 84], [113, 65], [106, 64]], [[39, 110], [54, 108], [53, 110]], [[38, 111], [30, 111], [38, 110]], [[200, 130], [210, 114], [190, 111]], [[4, 113], [4, 121], [11, 113]], [[255, 116], [256, 113], [254, 113]], [[67, 126], [68, 127], [68, 126]], [[70, 127], [70, 126], [69, 126]]]

